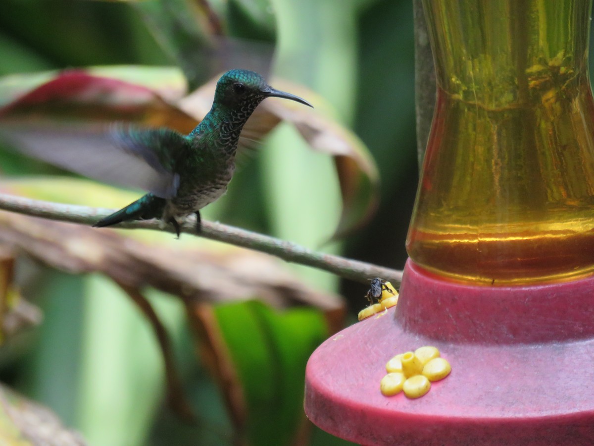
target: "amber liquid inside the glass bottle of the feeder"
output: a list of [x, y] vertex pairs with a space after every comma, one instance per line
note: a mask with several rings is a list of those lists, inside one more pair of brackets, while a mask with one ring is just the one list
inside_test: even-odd
[[[438, 1], [425, 7], [438, 23], [450, 18]], [[533, 57], [510, 56], [508, 71], [497, 72], [497, 52], [474, 60], [466, 53], [470, 82], [445, 77], [444, 66], [458, 59], [437, 57], [437, 106], [407, 238], [410, 257], [429, 271], [488, 285], [594, 272], [594, 103], [585, 52], [566, 45], [546, 56], [534, 42]]]

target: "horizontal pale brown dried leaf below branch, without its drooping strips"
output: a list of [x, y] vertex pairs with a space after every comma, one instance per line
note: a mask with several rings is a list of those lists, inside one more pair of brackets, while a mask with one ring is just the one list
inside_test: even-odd
[[72, 273], [102, 272], [132, 288], [151, 286], [185, 301], [220, 302], [258, 296], [273, 307], [309, 305], [342, 312], [339, 296], [312, 290], [280, 260], [238, 248], [149, 246], [112, 230], [0, 212], [0, 243]]

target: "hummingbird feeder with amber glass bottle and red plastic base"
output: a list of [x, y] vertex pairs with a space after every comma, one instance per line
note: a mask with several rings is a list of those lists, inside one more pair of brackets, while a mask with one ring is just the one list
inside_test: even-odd
[[[399, 301], [312, 354], [305, 412], [366, 445], [592, 445], [592, 1], [423, 5], [437, 103]], [[382, 394], [421, 346], [447, 378]]]

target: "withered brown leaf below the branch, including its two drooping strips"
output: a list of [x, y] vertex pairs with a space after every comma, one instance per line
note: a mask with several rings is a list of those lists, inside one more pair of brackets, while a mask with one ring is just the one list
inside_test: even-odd
[[[168, 336], [141, 289], [152, 286], [179, 296], [197, 334], [205, 361], [219, 380], [236, 426], [244, 422], [242, 388], [235, 366], [217, 334], [211, 310], [201, 303], [251, 300], [254, 297], [283, 308], [309, 305], [323, 310], [331, 331], [343, 324], [342, 300], [318, 293], [292, 277], [280, 261], [244, 249], [172, 249], [147, 245], [112, 230], [47, 221], [0, 212], [0, 244], [24, 252], [53, 268], [80, 274], [102, 272], [118, 283], [149, 319], [166, 366], [170, 403], [191, 418], [175, 370]], [[209, 322], [210, 321], [210, 322]]]

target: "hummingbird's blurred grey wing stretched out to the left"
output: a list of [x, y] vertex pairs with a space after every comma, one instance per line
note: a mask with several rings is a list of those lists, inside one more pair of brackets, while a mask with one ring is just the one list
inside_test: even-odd
[[0, 138], [26, 155], [157, 197], [175, 196], [173, 159], [188, 140], [169, 128], [111, 124], [0, 123]]

